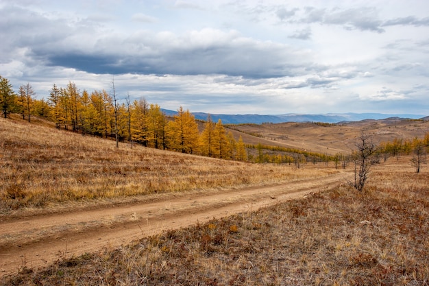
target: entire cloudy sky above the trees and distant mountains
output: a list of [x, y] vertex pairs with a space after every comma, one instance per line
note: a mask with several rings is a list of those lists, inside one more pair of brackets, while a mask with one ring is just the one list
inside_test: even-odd
[[0, 75], [211, 114], [429, 115], [426, 0], [0, 0]]

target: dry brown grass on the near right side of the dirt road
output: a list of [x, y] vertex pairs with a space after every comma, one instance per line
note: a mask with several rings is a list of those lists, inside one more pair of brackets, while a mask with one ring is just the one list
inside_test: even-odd
[[429, 285], [429, 174], [347, 185], [26, 270], [5, 285]]

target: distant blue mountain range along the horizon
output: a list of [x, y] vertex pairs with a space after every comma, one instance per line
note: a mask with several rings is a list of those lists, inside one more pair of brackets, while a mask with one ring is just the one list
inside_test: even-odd
[[[162, 109], [167, 116], [177, 114], [177, 111]], [[195, 119], [207, 120], [208, 113], [191, 112]], [[327, 114], [293, 114], [284, 115], [215, 115], [210, 114], [213, 122], [221, 119], [223, 124], [240, 124], [240, 123], [282, 123], [282, 122], [324, 122], [324, 123], [339, 123], [342, 121], [360, 121], [365, 119], [387, 119], [391, 117], [404, 119], [426, 119], [425, 115], [406, 115], [396, 114], [387, 115], [382, 113], [327, 113]]]

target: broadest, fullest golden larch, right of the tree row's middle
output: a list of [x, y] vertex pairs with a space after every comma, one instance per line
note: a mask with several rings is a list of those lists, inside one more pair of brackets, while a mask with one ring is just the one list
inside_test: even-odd
[[198, 126], [189, 110], [184, 111], [180, 106], [174, 120], [168, 123], [167, 130], [169, 149], [188, 154], [199, 152]]

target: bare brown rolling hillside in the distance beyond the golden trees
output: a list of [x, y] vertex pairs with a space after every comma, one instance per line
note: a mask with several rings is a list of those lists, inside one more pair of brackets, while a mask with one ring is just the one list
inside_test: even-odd
[[232, 128], [256, 135], [243, 135], [246, 143], [278, 145], [334, 155], [350, 154], [355, 148], [356, 138], [362, 132], [371, 134], [375, 143], [413, 139], [416, 136], [424, 138], [429, 130], [429, 121], [384, 119], [337, 124], [288, 122], [240, 124]]

